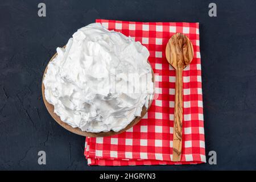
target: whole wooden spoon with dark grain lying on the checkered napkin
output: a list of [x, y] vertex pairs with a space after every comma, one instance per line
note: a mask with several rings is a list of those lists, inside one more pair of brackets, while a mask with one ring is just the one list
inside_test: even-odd
[[171, 37], [166, 46], [166, 59], [176, 71], [172, 160], [180, 161], [183, 122], [183, 69], [193, 59], [193, 46], [187, 36], [177, 33]]

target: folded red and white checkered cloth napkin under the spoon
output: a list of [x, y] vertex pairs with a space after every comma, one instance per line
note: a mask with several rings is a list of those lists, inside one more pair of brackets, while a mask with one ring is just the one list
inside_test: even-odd
[[[85, 142], [88, 165], [127, 166], [198, 164], [205, 162], [203, 96], [199, 49], [199, 23], [142, 23], [97, 19], [109, 30], [135, 38], [150, 51], [155, 93], [148, 113], [130, 130]], [[172, 162], [175, 70], [168, 64], [166, 44], [176, 32], [188, 36], [194, 48], [191, 64], [183, 71], [183, 140], [181, 162]]]

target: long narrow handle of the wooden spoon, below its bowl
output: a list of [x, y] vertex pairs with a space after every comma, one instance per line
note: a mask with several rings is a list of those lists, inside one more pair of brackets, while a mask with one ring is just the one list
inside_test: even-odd
[[175, 107], [174, 107], [174, 139], [173, 139], [173, 161], [181, 159], [182, 143], [182, 121], [183, 121], [183, 68], [176, 69], [175, 82]]

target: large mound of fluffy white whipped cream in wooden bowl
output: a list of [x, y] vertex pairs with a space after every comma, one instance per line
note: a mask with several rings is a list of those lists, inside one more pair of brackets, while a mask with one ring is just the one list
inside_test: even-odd
[[61, 121], [82, 131], [119, 131], [154, 93], [149, 52], [100, 23], [82, 27], [47, 68], [44, 94]]

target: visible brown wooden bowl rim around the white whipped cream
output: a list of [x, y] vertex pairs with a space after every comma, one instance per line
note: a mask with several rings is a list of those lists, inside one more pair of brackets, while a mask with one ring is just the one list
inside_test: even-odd
[[[57, 56], [57, 53], [55, 53], [55, 55], [52, 56], [52, 59], [50, 61], [52, 61], [56, 56]], [[48, 67], [48, 65], [47, 65], [47, 67]], [[44, 75], [46, 74], [47, 67], [46, 67], [46, 70], [44, 71]], [[155, 81], [154, 72], [153, 72], [152, 68], [151, 68], [151, 70], [152, 70], [152, 82], [154, 82]], [[44, 75], [43, 75], [43, 79], [44, 79]], [[154, 85], [155, 85], [155, 82], [154, 82]], [[126, 130], [130, 129], [131, 127], [133, 127], [134, 125], [136, 125], [143, 118], [143, 116], [147, 113], [147, 110], [148, 110], [145, 106], [143, 106], [142, 111], [141, 111], [141, 116], [140, 117], [135, 117], [129, 125], [127, 125], [124, 129], [122, 129], [118, 132], [108, 131], [108, 132], [92, 133], [92, 132], [82, 131], [78, 127], [74, 128], [74, 127], [68, 125], [67, 123], [61, 121], [60, 117], [57, 114], [54, 113], [54, 106], [49, 104], [46, 101], [46, 97], [44, 96], [44, 89], [45, 88], [44, 88], [44, 84], [43, 84], [43, 81], [42, 81], [42, 94], [43, 94], [44, 105], [46, 105], [46, 108], [47, 108], [49, 114], [51, 114], [52, 118], [55, 119], [55, 121], [57, 123], [59, 123], [60, 126], [64, 127], [68, 131], [71, 131], [72, 133], [75, 133], [77, 135], [82, 135], [82, 136], [85, 136], [85, 137], [107, 137], [107, 136], [110, 136], [110, 135], [123, 133], [124, 131], [126, 131]], [[148, 108], [150, 108], [151, 104], [152, 104], [152, 100], [150, 100], [148, 102]]]

